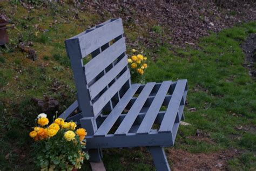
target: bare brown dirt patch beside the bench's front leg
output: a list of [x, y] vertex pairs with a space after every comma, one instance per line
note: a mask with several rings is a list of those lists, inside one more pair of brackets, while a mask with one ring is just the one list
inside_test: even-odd
[[193, 154], [174, 148], [169, 148], [167, 152], [173, 170], [226, 170], [227, 160], [238, 155], [234, 149], [211, 154]]

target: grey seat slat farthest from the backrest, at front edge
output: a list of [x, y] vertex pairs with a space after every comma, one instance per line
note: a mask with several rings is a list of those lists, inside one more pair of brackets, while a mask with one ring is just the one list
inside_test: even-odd
[[164, 115], [164, 119], [161, 122], [159, 132], [171, 132], [172, 127], [177, 115], [177, 112], [179, 110], [180, 101], [183, 97], [185, 87], [187, 84], [187, 80], [178, 80], [177, 84], [174, 88], [172, 98], [169, 102], [169, 105], [167, 107], [167, 110]]

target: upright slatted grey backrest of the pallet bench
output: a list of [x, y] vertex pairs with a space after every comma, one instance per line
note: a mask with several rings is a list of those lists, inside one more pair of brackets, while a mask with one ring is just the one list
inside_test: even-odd
[[123, 34], [122, 19], [115, 18], [65, 40], [83, 117], [111, 111], [131, 85]]

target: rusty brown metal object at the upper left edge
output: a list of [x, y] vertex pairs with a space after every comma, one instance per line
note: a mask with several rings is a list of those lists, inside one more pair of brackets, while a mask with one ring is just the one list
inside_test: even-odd
[[0, 45], [4, 45], [9, 42], [6, 29], [13, 28], [14, 25], [6, 26], [8, 24], [9, 22], [7, 19], [3, 15], [0, 15]]

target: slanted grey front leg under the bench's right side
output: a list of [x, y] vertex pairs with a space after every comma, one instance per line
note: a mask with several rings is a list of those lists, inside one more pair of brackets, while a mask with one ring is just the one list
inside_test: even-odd
[[167, 161], [164, 148], [159, 146], [149, 146], [147, 149], [150, 151], [154, 165], [156, 166], [157, 171], [170, 171], [170, 166]]

